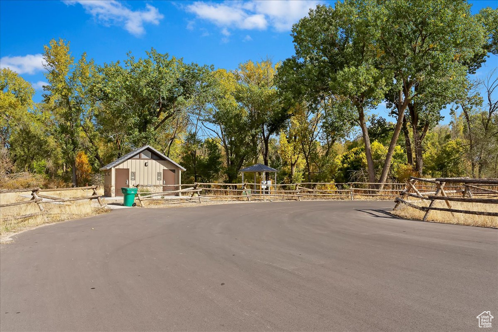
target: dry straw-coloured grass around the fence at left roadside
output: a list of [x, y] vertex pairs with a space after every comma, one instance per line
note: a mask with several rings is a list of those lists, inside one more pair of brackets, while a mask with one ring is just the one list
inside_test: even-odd
[[[59, 198], [77, 198], [91, 196], [92, 190], [70, 190], [70, 191], [53, 191], [43, 192], [42, 194], [55, 196]], [[14, 202], [28, 201], [31, 198], [31, 192], [7, 193], [0, 194], [0, 203], [8, 204]], [[94, 216], [110, 211], [107, 208], [95, 207], [87, 200], [74, 202], [43, 202], [42, 207], [47, 212], [46, 215], [32, 218], [14, 220], [13, 217], [40, 212], [38, 205], [25, 204], [13, 207], [4, 207], [0, 211], [0, 235], [1, 238], [8, 236], [10, 233], [18, 232], [24, 229], [33, 228], [44, 223], [66, 221], [88, 216]]]

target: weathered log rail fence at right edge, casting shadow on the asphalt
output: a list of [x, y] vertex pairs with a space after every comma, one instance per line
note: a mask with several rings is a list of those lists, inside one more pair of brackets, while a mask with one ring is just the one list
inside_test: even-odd
[[[429, 185], [419, 185], [428, 183]], [[450, 184], [449, 186], [446, 186]], [[449, 189], [449, 190], [448, 190]], [[409, 202], [408, 197], [430, 201], [429, 206], [418, 206]], [[445, 211], [469, 215], [498, 217], [498, 179], [470, 179], [470, 178], [435, 178], [423, 179], [410, 177], [401, 197], [396, 198], [398, 209], [401, 204], [425, 212], [423, 221], [427, 220], [431, 211]], [[447, 208], [434, 207], [435, 202], [444, 201]], [[413, 201], [412, 201], [413, 202]], [[497, 212], [472, 211], [453, 209], [451, 202], [494, 204]]]

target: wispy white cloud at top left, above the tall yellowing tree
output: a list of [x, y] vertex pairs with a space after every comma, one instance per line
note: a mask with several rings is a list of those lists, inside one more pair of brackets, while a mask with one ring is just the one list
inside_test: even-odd
[[97, 21], [104, 25], [122, 26], [134, 36], [145, 33], [144, 23], [159, 24], [164, 17], [156, 7], [145, 4], [144, 10], [131, 10], [116, 0], [64, 0], [66, 4], [81, 4]]

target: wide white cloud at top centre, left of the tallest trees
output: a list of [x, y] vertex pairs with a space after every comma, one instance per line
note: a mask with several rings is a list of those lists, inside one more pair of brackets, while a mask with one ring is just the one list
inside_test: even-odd
[[212, 3], [197, 1], [186, 9], [198, 18], [220, 27], [243, 30], [265, 30], [271, 26], [276, 31], [288, 31], [293, 23], [308, 14], [323, 1], [319, 0], [252, 0]]

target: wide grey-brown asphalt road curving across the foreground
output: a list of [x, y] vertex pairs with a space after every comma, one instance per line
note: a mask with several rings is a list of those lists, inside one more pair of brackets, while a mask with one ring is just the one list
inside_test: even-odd
[[498, 330], [498, 230], [390, 202], [123, 209], [0, 248], [1, 331]]

